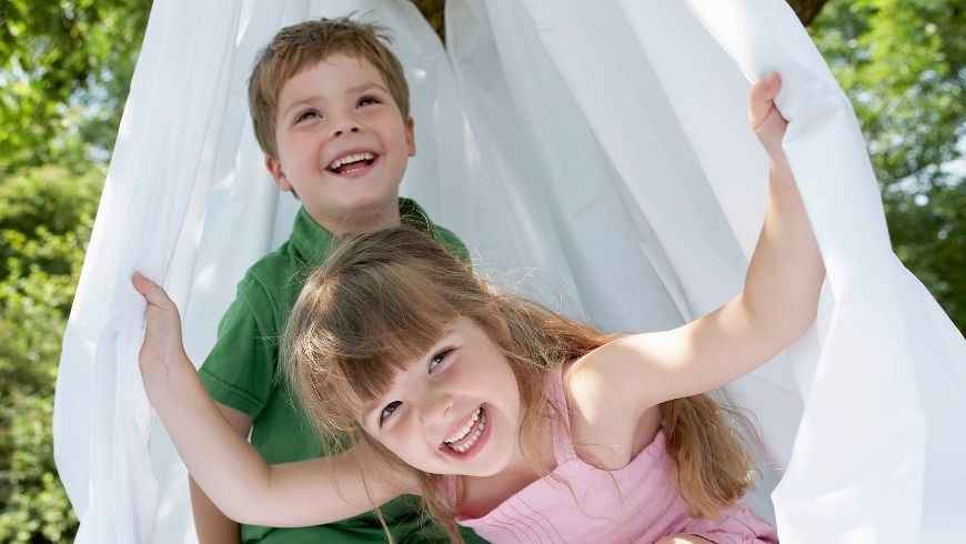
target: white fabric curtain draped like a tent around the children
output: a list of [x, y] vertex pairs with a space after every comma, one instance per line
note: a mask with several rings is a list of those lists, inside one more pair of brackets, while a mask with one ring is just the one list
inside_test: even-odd
[[751, 501], [784, 542], [964, 538], [966, 342], [893, 255], [848, 102], [781, 0], [449, 0], [447, 51], [404, 0], [155, 0], [58, 379], [78, 542], [194, 541], [129, 278], [164, 284], [200, 364], [298, 205], [252, 133], [254, 56], [284, 26], [353, 11], [393, 29], [412, 88], [403, 194], [499, 283], [615, 331], [677, 325], [741, 289], [767, 187], [748, 81], [781, 71], [828, 279], [805, 338], [725, 387], [762, 426]]

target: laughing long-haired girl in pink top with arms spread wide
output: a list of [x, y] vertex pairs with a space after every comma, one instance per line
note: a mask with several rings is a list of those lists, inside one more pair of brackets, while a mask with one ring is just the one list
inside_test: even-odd
[[268, 466], [221, 419], [149, 303], [140, 365], [185, 465], [229, 516], [326, 523], [421, 495], [495, 542], [775, 542], [741, 502], [749, 459], [703, 393], [749, 372], [814, 319], [824, 266], [781, 140], [771, 74], [749, 120], [772, 161], [745, 289], [682, 328], [612, 336], [501, 294], [424, 235], [356, 238], [313, 273], [284, 338], [288, 375], [345, 450]]

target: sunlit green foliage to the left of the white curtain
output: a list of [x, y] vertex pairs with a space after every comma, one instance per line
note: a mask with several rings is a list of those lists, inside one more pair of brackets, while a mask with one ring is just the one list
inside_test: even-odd
[[150, 1], [0, 0], [0, 542], [71, 542], [60, 341]]

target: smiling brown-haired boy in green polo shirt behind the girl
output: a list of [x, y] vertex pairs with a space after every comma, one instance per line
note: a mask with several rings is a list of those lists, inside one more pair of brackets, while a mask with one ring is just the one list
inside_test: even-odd
[[[328, 256], [334, 236], [401, 222], [432, 234], [464, 261], [463, 244], [399, 198], [415, 154], [409, 89], [388, 49], [385, 29], [348, 18], [282, 29], [249, 81], [249, 107], [265, 167], [302, 209], [289, 240], [253, 264], [219, 325], [199, 373], [222, 414], [269, 463], [315, 457], [322, 446], [293, 405], [279, 365], [279, 342], [309, 266]], [[191, 482], [199, 540], [208, 542], [384, 542], [373, 514], [302, 528], [239, 525]], [[384, 505], [396, 542], [442, 540], [415, 500]], [[472, 537], [472, 535], [469, 535]], [[479, 542], [479, 541], [476, 541]]]

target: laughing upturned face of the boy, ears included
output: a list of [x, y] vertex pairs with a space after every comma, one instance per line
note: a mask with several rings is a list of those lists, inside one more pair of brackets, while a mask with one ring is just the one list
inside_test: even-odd
[[323, 226], [341, 233], [398, 221], [399, 184], [415, 154], [402, 119], [368, 60], [336, 53], [292, 77], [279, 93], [279, 157], [265, 167]]

